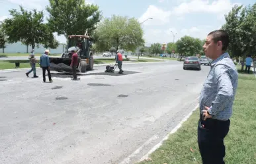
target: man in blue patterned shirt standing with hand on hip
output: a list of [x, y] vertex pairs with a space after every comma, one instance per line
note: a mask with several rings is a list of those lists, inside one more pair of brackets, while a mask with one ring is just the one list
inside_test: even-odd
[[224, 138], [230, 128], [230, 117], [237, 89], [237, 69], [226, 50], [228, 33], [210, 32], [204, 43], [206, 57], [212, 59], [210, 72], [200, 95], [198, 147], [203, 164], [224, 164]]

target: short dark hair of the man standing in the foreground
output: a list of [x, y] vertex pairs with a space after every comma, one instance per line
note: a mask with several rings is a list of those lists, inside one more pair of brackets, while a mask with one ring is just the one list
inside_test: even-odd
[[210, 35], [212, 36], [212, 40], [214, 40], [214, 43], [222, 41], [222, 51], [226, 51], [228, 49], [228, 45], [230, 43], [228, 32], [226, 32], [225, 30], [215, 30], [208, 34], [208, 36]]

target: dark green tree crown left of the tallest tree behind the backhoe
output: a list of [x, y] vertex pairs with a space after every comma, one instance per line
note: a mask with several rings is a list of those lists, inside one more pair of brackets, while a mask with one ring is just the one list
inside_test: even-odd
[[13, 18], [7, 18], [3, 21], [3, 30], [9, 43], [21, 41], [26, 45], [35, 45], [43, 43], [48, 35], [48, 30], [44, 21], [42, 11], [26, 11], [20, 7], [21, 11], [15, 9], [9, 11]]

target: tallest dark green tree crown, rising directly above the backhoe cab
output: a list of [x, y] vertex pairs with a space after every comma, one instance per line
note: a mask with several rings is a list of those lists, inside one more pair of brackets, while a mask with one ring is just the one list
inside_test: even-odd
[[84, 0], [49, 0], [46, 10], [50, 14], [48, 22], [53, 32], [58, 35], [85, 34], [95, 30], [101, 20], [101, 12], [97, 5], [85, 4]]

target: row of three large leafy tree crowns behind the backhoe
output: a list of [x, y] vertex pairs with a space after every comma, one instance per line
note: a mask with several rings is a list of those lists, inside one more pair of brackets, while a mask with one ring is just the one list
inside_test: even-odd
[[135, 51], [144, 45], [143, 30], [136, 18], [113, 15], [104, 18], [97, 5], [89, 5], [84, 0], [49, 0], [45, 11], [49, 14], [44, 19], [44, 11], [33, 9], [28, 11], [20, 6], [20, 10], [9, 11], [11, 18], [1, 22], [0, 48], [6, 43], [21, 41], [32, 48], [39, 44], [55, 49], [59, 43], [54, 32], [64, 35], [77, 34], [91, 36], [93, 51], [116, 51], [125, 49]]

